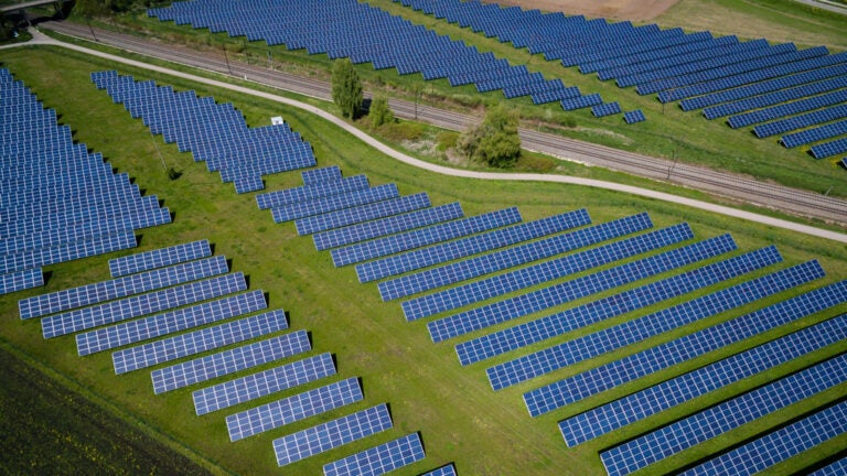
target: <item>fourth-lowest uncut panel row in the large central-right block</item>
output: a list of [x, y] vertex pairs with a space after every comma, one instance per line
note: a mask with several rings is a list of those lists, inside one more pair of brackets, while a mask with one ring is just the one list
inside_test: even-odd
[[613, 241], [401, 303], [408, 321], [435, 315], [694, 238], [687, 224]]

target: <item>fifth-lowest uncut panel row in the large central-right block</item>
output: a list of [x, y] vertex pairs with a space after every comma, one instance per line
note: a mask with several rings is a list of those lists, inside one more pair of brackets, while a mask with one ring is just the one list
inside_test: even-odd
[[384, 281], [378, 285], [379, 294], [383, 301], [404, 298], [619, 238], [631, 232], [642, 231], [652, 226], [653, 224], [647, 214], [619, 218], [569, 234], [544, 238], [514, 248]]

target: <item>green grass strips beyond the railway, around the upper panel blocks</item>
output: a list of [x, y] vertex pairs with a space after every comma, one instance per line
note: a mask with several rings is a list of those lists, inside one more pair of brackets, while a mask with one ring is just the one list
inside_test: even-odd
[[[485, 39], [468, 29], [446, 24], [443, 21], [404, 8], [390, 0], [371, 0], [368, 3], [392, 14], [403, 15], [414, 23], [424, 24], [438, 34], [449, 35], [453, 40], [474, 45], [481, 52], [494, 52], [495, 55], [507, 58], [514, 65], [526, 65], [529, 71], [540, 72], [548, 78], [561, 78], [568, 85], [578, 86], [585, 94], [600, 93], [607, 101], [619, 101], [623, 110], [640, 108], [648, 119], [636, 126], [626, 126], [619, 116], [593, 118], [589, 110], [565, 112], [558, 104], [534, 106], [529, 98], [508, 100], [510, 107], [519, 111], [525, 127], [538, 128], [575, 139], [654, 156], [675, 158], [680, 161], [728, 170], [818, 193], [828, 192], [835, 196], [847, 196], [847, 186], [843, 180], [844, 171], [837, 164], [840, 158], [814, 160], [798, 149], [787, 150], [783, 148], [775, 139], [754, 139], [751, 134], [751, 128], [732, 130], [723, 121], [708, 121], [698, 111], [685, 112], [676, 104], [663, 106], [655, 99], [655, 95], [639, 96], [632, 88], [620, 89], [609, 82], [597, 80], [594, 75], [582, 75], [576, 68], [564, 68], [558, 62], [545, 61], [543, 55], [530, 55], [526, 50], [515, 50], [511, 43], [502, 44]], [[742, 2], [741, 6], [736, 6], [735, 2], [726, 3], [723, 8], [727, 9], [726, 15], [728, 18], [735, 18], [737, 14], [752, 10], [753, 12], [761, 12], [762, 22], [789, 29], [792, 25], [789, 21], [792, 17], [803, 15], [807, 22], [821, 23], [821, 26], [816, 28], [815, 31], [823, 33], [821, 37], [815, 40], [823, 39], [823, 36], [830, 37], [832, 43], [825, 44], [832, 45], [834, 48], [837, 48], [837, 43], [847, 42], [847, 36], [841, 31], [837, 17], [804, 10], [795, 7], [789, 0], [763, 2], [766, 6], [776, 4], [780, 9], [786, 4], [783, 17], [773, 13], [775, 7], [768, 9], [757, 7], [753, 9], [746, 2]], [[759, 3], [757, 2], [757, 4]], [[732, 8], [736, 10], [731, 10]], [[766, 12], [770, 13], [765, 15]], [[679, 18], [683, 17], [685, 13], [679, 14]], [[695, 14], [690, 17], [691, 21], [698, 18]], [[176, 26], [171, 22], [159, 22], [143, 14], [126, 17], [117, 21], [124, 28], [150, 33], [162, 41], [217, 51], [226, 47], [232, 57], [238, 57], [240, 61], [267, 64], [270, 54], [277, 68], [324, 79], [329, 78], [328, 72], [331, 61], [325, 55], [308, 56], [300, 51], [289, 52], [282, 46], [268, 47], [265, 42], [229, 39], [226, 34], [211, 34], [207, 30]], [[694, 24], [676, 24], [674, 20], [662, 20], [661, 24], [663, 28], [682, 25], [696, 29]], [[808, 30], [805, 23], [795, 22], [794, 24], [796, 25], [794, 32], [797, 34]], [[781, 40], [778, 39], [776, 41]], [[810, 41], [813, 45], [822, 43], [812, 39]], [[807, 46], [802, 42], [798, 44]], [[450, 87], [446, 79], [421, 83], [420, 75], [400, 76], [394, 69], [374, 71], [369, 64], [358, 65], [357, 71], [364, 78], [368, 90], [383, 91], [412, 100], [412, 91], [422, 84], [422, 101], [465, 112], [482, 115], [485, 107], [505, 100], [502, 93], [478, 94], [473, 86]], [[774, 163], [780, 166], [773, 166]]]

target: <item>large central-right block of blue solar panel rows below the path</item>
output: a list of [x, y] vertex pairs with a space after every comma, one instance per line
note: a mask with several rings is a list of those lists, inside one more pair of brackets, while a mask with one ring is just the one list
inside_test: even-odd
[[[258, 195], [257, 203], [259, 208], [274, 209], [268, 205], [269, 202], [289, 197], [290, 204], [300, 209], [310, 209], [312, 214], [336, 213], [336, 208], [323, 208], [318, 205], [344, 203], [345, 197], [355, 193], [342, 186], [351, 178], [353, 177], [342, 177], [339, 174], [335, 181], [320, 187], [298, 187]], [[307, 188], [309, 194], [305, 193]], [[458, 204], [451, 206], [460, 209]], [[354, 215], [356, 208], [357, 206], [351, 206], [342, 208], [342, 212]], [[511, 218], [503, 219], [507, 216]], [[491, 225], [483, 225], [486, 223]], [[824, 278], [824, 270], [817, 261], [765, 271], [782, 262], [782, 257], [773, 246], [716, 260], [736, 250], [736, 244], [730, 236], [723, 235], [675, 247], [694, 238], [690, 228], [684, 224], [650, 231], [652, 223], [644, 214], [599, 225], [590, 223], [585, 210], [529, 223], [521, 223], [515, 209], [469, 218], [454, 215], [449, 220], [438, 223], [431, 223], [420, 212], [397, 210], [384, 218], [339, 224], [337, 227], [314, 235], [313, 240], [319, 250], [330, 250], [336, 266], [354, 264], [362, 282], [382, 280], [378, 289], [385, 300], [412, 296], [401, 303], [409, 320], [440, 316], [452, 310], [473, 306], [429, 322], [433, 342], [479, 332], [495, 324], [544, 312], [577, 299], [590, 299], [645, 279], [661, 278], [457, 344], [457, 355], [462, 365], [528, 349], [529, 346], [537, 346], [550, 339], [560, 339], [576, 329], [650, 309], [663, 302], [678, 303], [494, 365], [487, 369], [487, 376], [495, 390], [529, 381], [578, 363], [620, 353], [633, 344], [714, 320], [722, 313], [738, 313], [766, 299], [786, 293], [794, 294], [793, 298], [776, 304], [528, 391], [524, 398], [533, 415], [582, 401], [645, 375], [667, 369], [669, 366], [815, 313], [843, 307], [844, 303], [847, 303], [845, 282], [797, 294], [797, 288], [807, 286]], [[483, 226], [473, 227], [473, 224]], [[650, 256], [641, 257], [644, 253]], [[594, 271], [598, 267], [603, 269]], [[673, 273], [679, 269], [687, 271]], [[486, 277], [495, 272], [500, 273]], [[588, 274], [569, 279], [578, 273]], [[751, 273], [758, 273], [758, 277], [751, 279], [748, 277]], [[663, 275], [665, 278], [662, 278]], [[566, 281], [555, 283], [555, 280], [561, 279]], [[551, 282], [554, 284], [550, 284]], [[444, 289], [451, 285], [452, 288]], [[483, 302], [538, 285], [544, 288], [523, 291], [523, 294], [498, 302]], [[680, 302], [680, 298], [684, 299], [689, 293], [703, 293], [718, 285], [717, 291]], [[436, 292], [414, 296], [430, 290]], [[803, 358], [816, 349], [836, 343], [847, 332], [845, 324], [847, 321], [844, 317], [836, 317], [802, 332], [785, 335], [690, 375], [677, 377], [655, 388], [562, 420], [560, 430], [569, 445], [619, 430], [650, 414], [738, 381], [744, 376], [760, 374], [775, 368], [779, 364]], [[843, 356], [836, 357], [804, 370], [802, 378], [793, 376], [784, 379], [785, 382], [776, 380], [754, 393], [742, 394], [738, 397], [738, 403], [733, 401], [708, 409], [705, 411], [707, 416], [691, 416], [700, 422], [725, 422], [723, 428], [712, 425], [710, 433], [699, 431], [699, 426], [684, 421], [662, 426], [639, 440], [614, 446], [603, 452], [601, 457], [610, 474], [628, 474], [645, 467], [743, 422], [839, 385], [847, 377], [841, 369], [843, 359]], [[719, 376], [725, 377], [720, 380]], [[683, 383], [687, 386], [685, 391], [682, 391]], [[675, 392], [677, 389], [680, 390]], [[789, 400], [782, 399], [783, 392]], [[779, 400], [781, 403], [772, 407], [750, 405], [749, 402], [758, 402], [762, 398]], [[747, 413], [739, 409], [746, 409]], [[718, 413], [721, 411], [725, 413]], [[828, 412], [830, 409], [822, 411]], [[725, 414], [735, 415], [735, 420], [721, 416]], [[843, 429], [827, 437], [841, 432]], [[664, 442], [674, 434], [680, 444], [674, 451], [668, 451]], [[797, 439], [800, 442], [803, 436], [797, 435]], [[684, 441], [688, 443], [682, 443]], [[643, 457], [646, 454], [651, 456]]]

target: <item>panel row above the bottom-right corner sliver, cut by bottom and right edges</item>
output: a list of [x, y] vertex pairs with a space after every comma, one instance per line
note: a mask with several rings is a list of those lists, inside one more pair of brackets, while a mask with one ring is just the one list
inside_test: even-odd
[[840, 402], [768, 433], [682, 474], [694, 476], [759, 473], [844, 432], [847, 432], [847, 402]]

